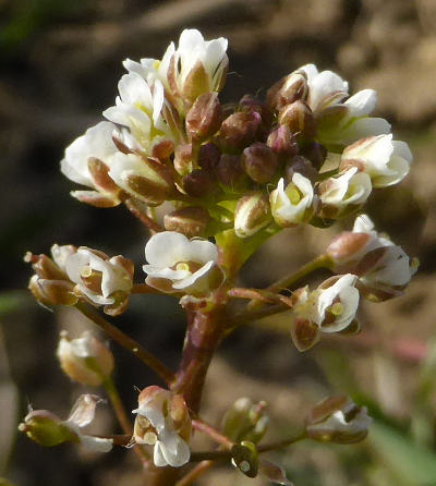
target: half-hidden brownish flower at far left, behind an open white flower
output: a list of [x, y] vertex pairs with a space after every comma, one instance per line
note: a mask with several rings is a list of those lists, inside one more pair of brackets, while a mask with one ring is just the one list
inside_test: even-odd
[[28, 282], [28, 289], [43, 305], [74, 305], [77, 296], [74, 283], [65, 270], [66, 258], [77, 251], [72, 245], [51, 246], [51, 258], [47, 255], [34, 255], [27, 252], [24, 262], [32, 264], [35, 275]]

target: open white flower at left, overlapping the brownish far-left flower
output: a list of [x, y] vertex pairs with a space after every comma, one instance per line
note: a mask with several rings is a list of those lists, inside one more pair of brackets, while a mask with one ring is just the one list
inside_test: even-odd
[[65, 270], [75, 292], [93, 304], [105, 305], [105, 313], [118, 315], [125, 309], [132, 289], [133, 264], [118, 255], [78, 247], [65, 260]]

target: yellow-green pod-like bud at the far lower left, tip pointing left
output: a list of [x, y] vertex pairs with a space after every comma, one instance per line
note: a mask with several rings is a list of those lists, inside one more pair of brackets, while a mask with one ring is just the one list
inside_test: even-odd
[[19, 425], [19, 430], [44, 447], [59, 446], [69, 441], [78, 442], [77, 436], [48, 410], [29, 412]]

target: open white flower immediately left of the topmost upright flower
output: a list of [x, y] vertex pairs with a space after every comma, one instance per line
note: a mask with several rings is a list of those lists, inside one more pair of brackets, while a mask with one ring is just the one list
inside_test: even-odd
[[165, 99], [164, 86], [156, 80], [150, 86], [137, 72], [124, 74], [119, 84], [120, 96], [116, 106], [104, 111], [104, 116], [130, 129], [131, 135], [146, 155], [160, 143], [174, 143], [178, 138], [170, 108]]

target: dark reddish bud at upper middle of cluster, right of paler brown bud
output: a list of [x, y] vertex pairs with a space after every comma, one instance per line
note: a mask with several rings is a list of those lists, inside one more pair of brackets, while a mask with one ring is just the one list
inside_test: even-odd
[[257, 112], [239, 111], [230, 114], [221, 124], [217, 137], [222, 151], [239, 154], [256, 137], [262, 117]]

